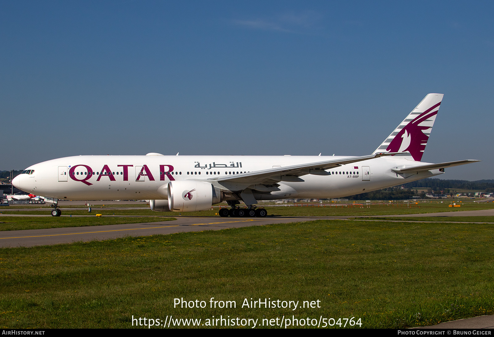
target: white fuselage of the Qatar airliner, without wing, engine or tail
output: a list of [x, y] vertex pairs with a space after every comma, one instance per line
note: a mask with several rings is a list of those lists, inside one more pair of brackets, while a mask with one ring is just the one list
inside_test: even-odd
[[[46, 161], [14, 178], [17, 188], [60, 200], [165, 200], [169, 181], [193, 179], [212, 183], [225, 192], [232, 184], [214, 178], [245, 172], [315, 163], [349, 156], [74, 156]], [[330, 175], [306, 174], [303, 181], [278, 183], [279, 191], [255, 192], [256, 200], [340, 198], [442, 174], [439, 169], [400, 175], [392, 168], [427, 163], [403, 157], [380, 157], [328, 169]]]

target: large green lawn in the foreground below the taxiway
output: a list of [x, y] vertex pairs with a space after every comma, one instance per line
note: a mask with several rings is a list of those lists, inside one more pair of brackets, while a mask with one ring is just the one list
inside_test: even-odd
[[[321, 220], [0, 250], [3, 328], [160, 318], [351, 318], [404, 328], [493, 314], [494, 227]], [[174, 308], [173, 299], [237, 308]], [[321, 308], [242, 308], [244, 299]], [[337, 326], [336, 326], [337, 327]]]

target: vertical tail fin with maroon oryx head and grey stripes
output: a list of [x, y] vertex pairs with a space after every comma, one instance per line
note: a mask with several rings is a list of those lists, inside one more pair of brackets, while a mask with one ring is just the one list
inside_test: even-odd
[[443, 94], [427, 95], [395, 131], [375, 149], [374, 154], [409, 152], [410, 154], [405, 154], [406, 159], [420, 162], [443, 96]]

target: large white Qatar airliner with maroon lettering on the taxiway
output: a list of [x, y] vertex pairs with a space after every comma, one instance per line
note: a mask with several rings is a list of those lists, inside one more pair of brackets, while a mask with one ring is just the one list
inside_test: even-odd
[[220, 208], [220, 216], [265, 217], [258, 201], [342, 198], [479, 162], [420, 161], [442, 99], [428, 94], [365, 156], [73, 156], [30, 166], [12, 184], [44, 195], [53, 216], [61, 214], [58, 200], [149, 199], [154, 211], [200, 211], [226, 201], [231, 208]]

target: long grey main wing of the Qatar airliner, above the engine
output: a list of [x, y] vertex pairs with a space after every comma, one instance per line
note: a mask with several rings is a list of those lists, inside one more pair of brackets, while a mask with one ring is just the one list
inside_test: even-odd
[[299, 176], [305, 174], [316, 175], [329, 175], [326, 169], [337, 168], [342, 165], [361, 162], [373, 158], [379, 158], [382, 156], [391, 156], [396, 153], [376, 153], [368, 156], [361, 157], [348, 157], [343, 159], [328, 160], [324, 162], [308, 163], [286, 166], [283, 168], [275, 169], [263, 169], [260, 171], [253, 171], [248, 173], [241, 173], [235, 175], [225, 175], [216, 178], [210, 178], [207, 180], [216, 180], [218, 182], [230, 182], [237, 184], [273, 184], [279, 181], [304, 181]]

